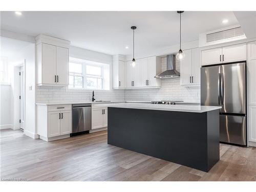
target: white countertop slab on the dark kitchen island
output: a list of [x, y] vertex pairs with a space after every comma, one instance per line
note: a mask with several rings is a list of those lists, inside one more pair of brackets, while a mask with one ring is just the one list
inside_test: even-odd
[[169, 104], [151, 104], [151, 103], [106, 103], [97, 104], [98, 106], [108, 106], [111, 108], [128, 108], [141, 110], [159, 110], [159, 111], [179, 111], [203, 113], [221, 109], [221, 106], [203, 106], [203, 105], [169, 105]]

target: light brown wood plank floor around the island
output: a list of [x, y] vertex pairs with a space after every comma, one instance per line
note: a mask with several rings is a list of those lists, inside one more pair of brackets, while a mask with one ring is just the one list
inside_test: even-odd
[[108, 145], [106, 131], [51, 142], [0, 133], [2, 180], [256, 181], [256, 147], [220, 144], [220, 161], [205, 173]]

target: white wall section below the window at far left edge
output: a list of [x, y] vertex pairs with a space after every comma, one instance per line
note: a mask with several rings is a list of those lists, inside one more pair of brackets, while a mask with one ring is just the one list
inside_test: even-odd
[[10, 85], [0, 84], [0, 129], [12, 129], [12, 88]]

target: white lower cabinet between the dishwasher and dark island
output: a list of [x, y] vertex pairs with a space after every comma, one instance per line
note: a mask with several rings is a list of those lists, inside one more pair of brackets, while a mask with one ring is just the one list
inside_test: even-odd
[[92, 130], [108, 126], [108, 108], [92, 105]]

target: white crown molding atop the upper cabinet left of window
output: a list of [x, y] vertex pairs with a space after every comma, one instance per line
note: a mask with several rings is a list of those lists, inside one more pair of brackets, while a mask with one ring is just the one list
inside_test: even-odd
[[69, 48], [70, 47], [70, 41], [65, 39], [60, 39], [57, 37], [52, 37], [49, 35], [40, 34], [35, 37], [36, 45], [44, 43], [44, 44], [50, 44], [54, 46], [59, 46], [63, 48]]

